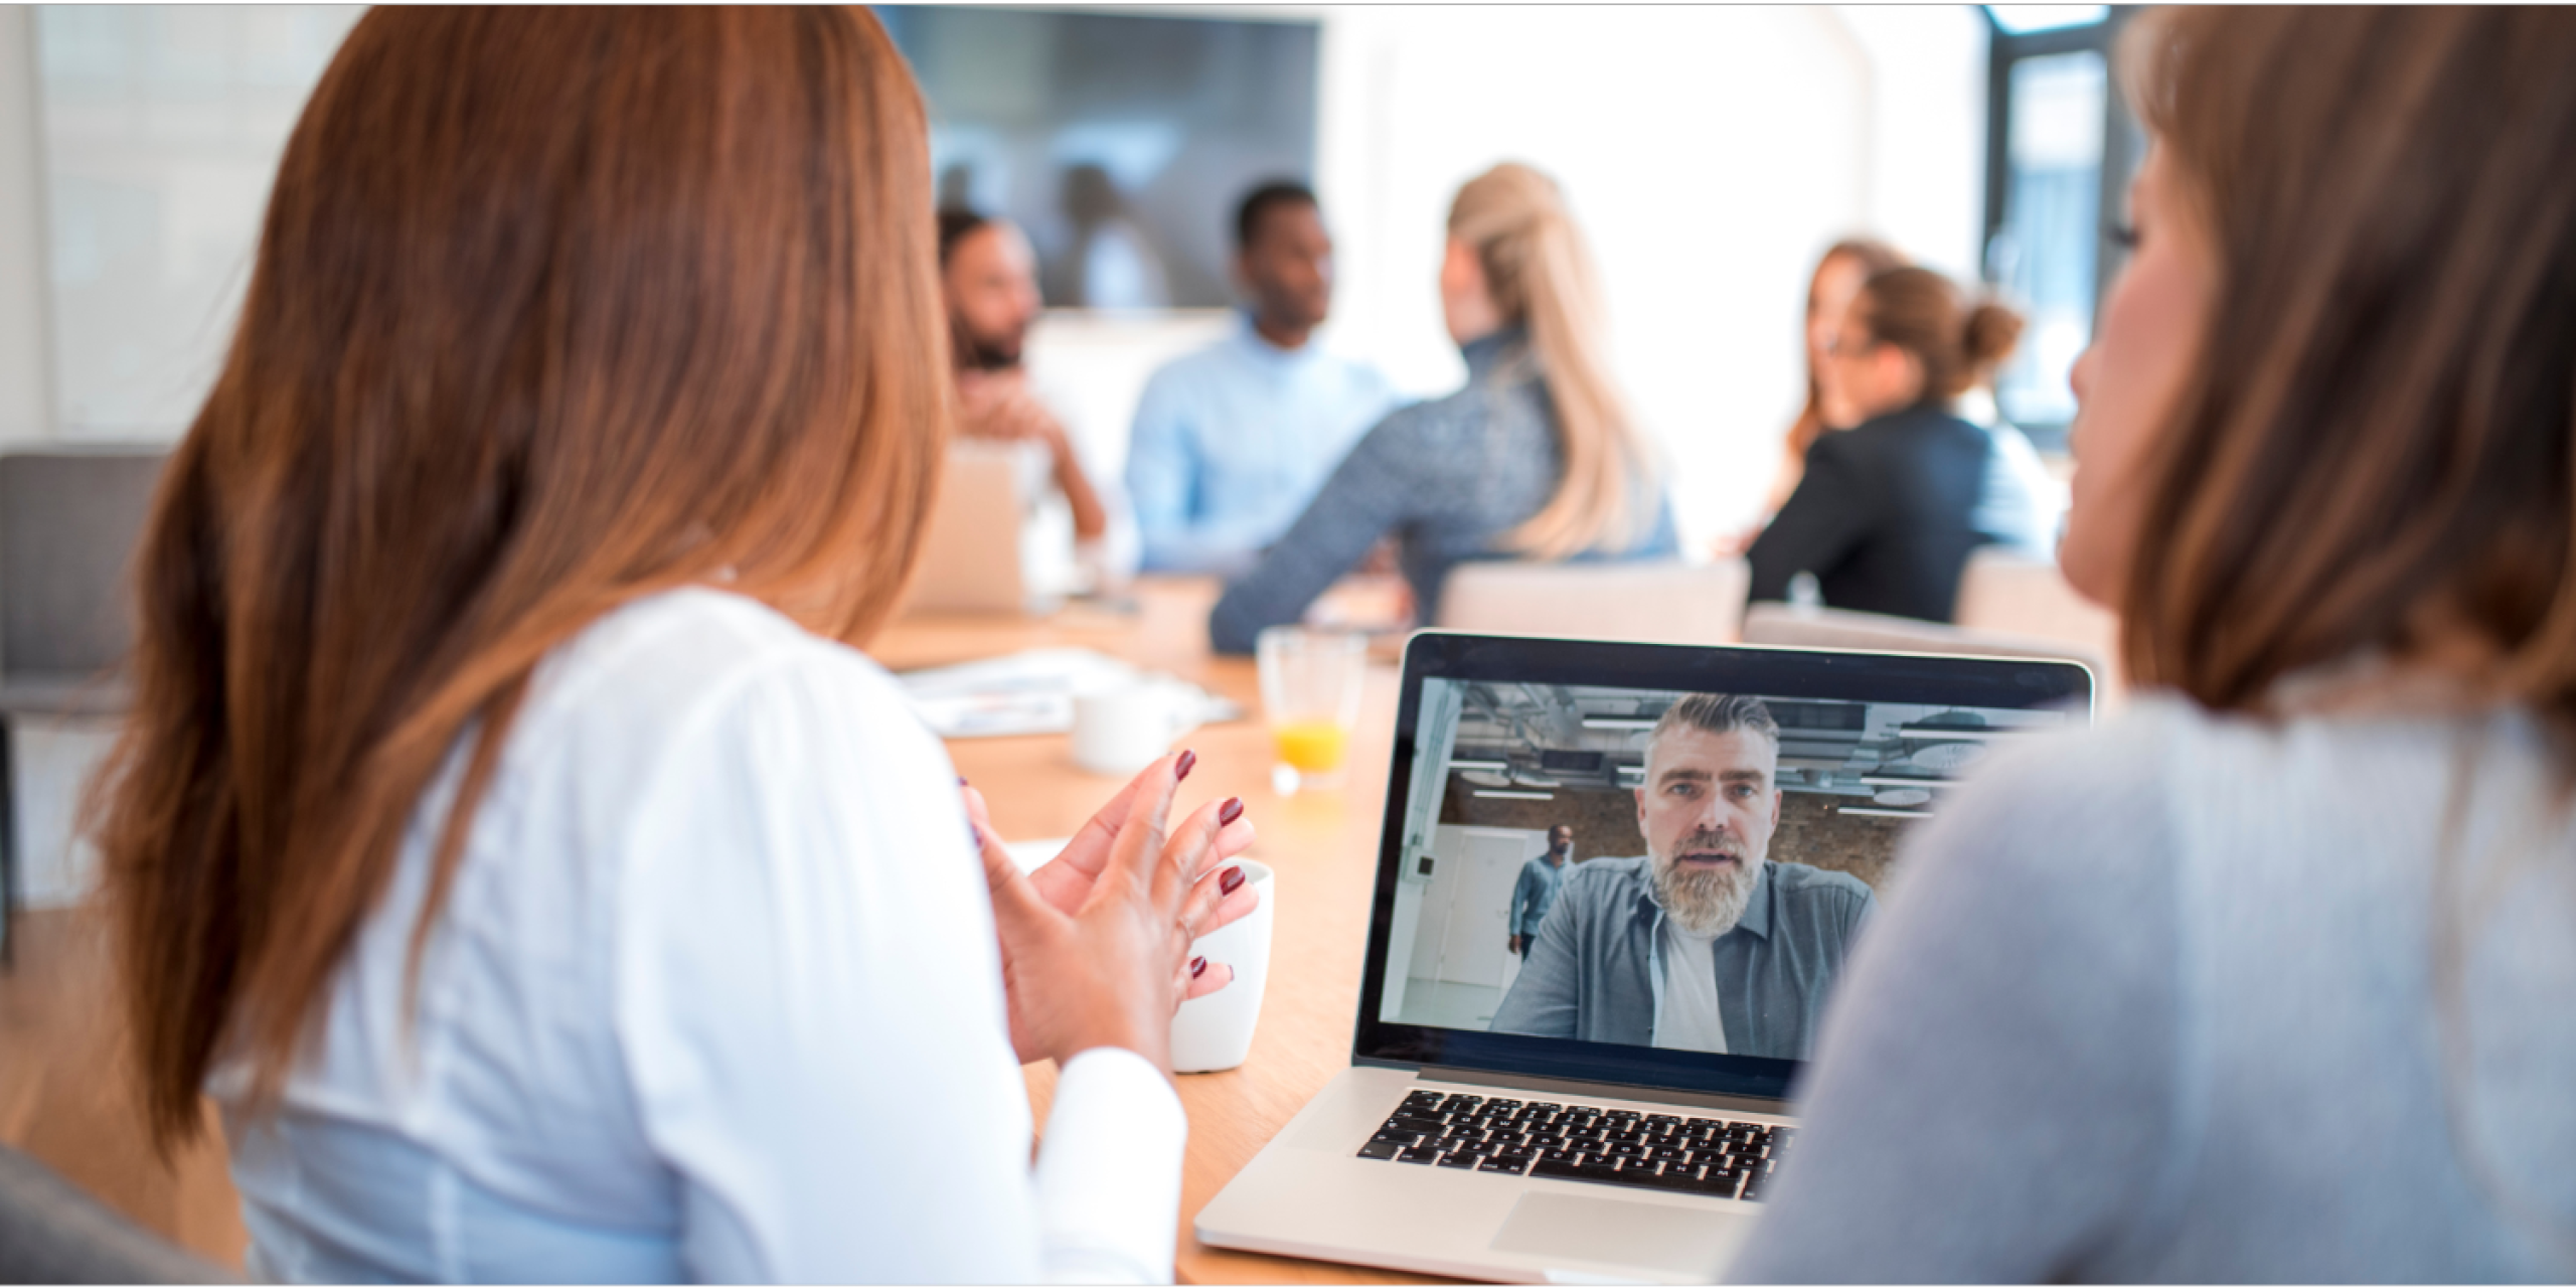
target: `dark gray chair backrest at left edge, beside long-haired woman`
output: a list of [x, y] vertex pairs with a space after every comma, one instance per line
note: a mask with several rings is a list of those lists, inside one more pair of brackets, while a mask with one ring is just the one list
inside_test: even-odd
[[98, 675], [126, 659], [126, 574], [162, 448], [0, 456], [0, 672]]

